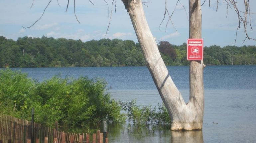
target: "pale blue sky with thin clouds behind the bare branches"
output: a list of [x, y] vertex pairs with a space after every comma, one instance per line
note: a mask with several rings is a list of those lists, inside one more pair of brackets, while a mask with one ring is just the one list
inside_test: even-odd
[[[112, 0], [106, 0], [109, 5], [109, 11], [104, 0], [76, 0], [75, 11], [80, 24], [74, 16], [74, 3], [69, 2], [68, 11], [66, 10], [66, 0], [52, 0], [47, 8], [44, 16], [31, 28], [24, 29], [33, 24], [42, 15], [48, 0], [1, 0], [0, 1], [0, 35], [8, 39], [17, 40], [18, 37], [54, 37], [66, 39], [81, 39], [83, 42], [89, 40], [99, 40], [102, 38], [123, 39], [137, 41], [136, 34], [132, 27], [129, 15], [124, 9], [121, 0], [117, 0], [116, 13], [114, 12], [111, 18], [110, 27], [105, 36], [107, 25], [110, 18]], [[147, 2], [149, 0], [142, 0]], [[188, 13], [188, 0], [180, 0], [185, 6]], [[242, 0], [237, 0], [238, 7], [244, 10]], [[167, 8], [170, 13], [173, 12], [177, 1], [168, 0]], [[201, 3], [203, 0], [201, 0]], [[224, 1], [220, 1], [218, 11], [216, 12], [216, 0], [211, 0], [209, 7], [208, 0], [202, 6], [202, 38], [204, 46], [219, 45], [221, 47], [227, 45], [256, 45], [253, 40], [246, 40], [242, 44], [245, 33], [241, 27], [238, 30], [237, 41], [234, 43], [236, 28], [238, 25], [237, 15], [233, 9], [228, 9]], [[189, 21], [186, 12], [182, 5], [178, 4], [176, 11], [172, 17], [175, 27], [169, 23], [165, 31], [167, 18], [165, 18], [161, 30], [159, 25], [164, 16], [165, 0], [151, 0], [150, 3], [145, 3], [144, 11], [148, 20], [151, 31], [159, 41], [168, 41], [174, 45], [181, 45], [187, 42], [189, 35]], [[251, 13], [256, 13], [256, 1], [251, 0]], [[251, 24], [253, 30], [248, 27], [249, 36], [256, 38], [256, 15], [252, 15]], [[178, 32], [176, 32], [176, 30]]]

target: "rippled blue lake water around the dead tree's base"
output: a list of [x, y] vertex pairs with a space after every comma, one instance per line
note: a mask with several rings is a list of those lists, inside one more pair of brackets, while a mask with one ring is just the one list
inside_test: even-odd
[[[189, 100], [189, 67], [168, 67], [184, 100]], [[43, 81], [62, 77], [100, 77], [108, 82], [112, 98], [137, 100], [139, 105], [162, 102], [146, 67], [21, 68]], [[206, 66], [202, 131], [147, 130], [139, 134], [125, 125], [108, 127], [110, 143], [256, 143], [256, 66]]]

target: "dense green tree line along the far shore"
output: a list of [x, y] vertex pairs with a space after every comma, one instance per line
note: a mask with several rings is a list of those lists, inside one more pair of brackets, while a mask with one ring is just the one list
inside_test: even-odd
[[[189, 65], [187, 44], [159, 42], [167, 66]], [[204, 47], [206, 65], [255, 65], [256, 46]], [[144, 66], [140, 45], [131, 40], [81, 40], [22, 37], [17, 41], [0, 36], [0, 68]]]

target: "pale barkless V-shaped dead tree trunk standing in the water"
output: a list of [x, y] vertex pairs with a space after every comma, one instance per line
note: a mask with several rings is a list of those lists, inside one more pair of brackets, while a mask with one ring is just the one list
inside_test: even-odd
[[[141, 0], [122, 1], [131, 18], [139, 44], [146, 59], [146, 65], [172, 119], [171, 130], [201, 129], [204, 105], [202, 62], [191, 62], [190, 74], [192, 75], [190, 76], [190, 86], [193, 89], [190, 90], [190, 101], [186, 104], [181, 93], [173, 83], [159, 53], [156, 39], [149, 29]], [[200, 10], [199, 2], [197, 2], [193, 10], [196, 11], [197, 9]], [[199, 23], [201, 23], [201, 21]], [[198, 35], [196, 34], [196, 36]], [[200, 36], [201, 35], [199, 35], [199, 37]]]

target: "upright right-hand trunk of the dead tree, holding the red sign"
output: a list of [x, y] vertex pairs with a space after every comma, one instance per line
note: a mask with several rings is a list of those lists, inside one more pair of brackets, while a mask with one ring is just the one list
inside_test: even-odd
[[[189, 0], [189, 38], [200, 39], [202, 29], [202, 11], [200, 0]], [[195, 121], [202, 128], [204, 112], [203, 61], [190, 61], [190, 100], [188, 105], [197, 112]]]

